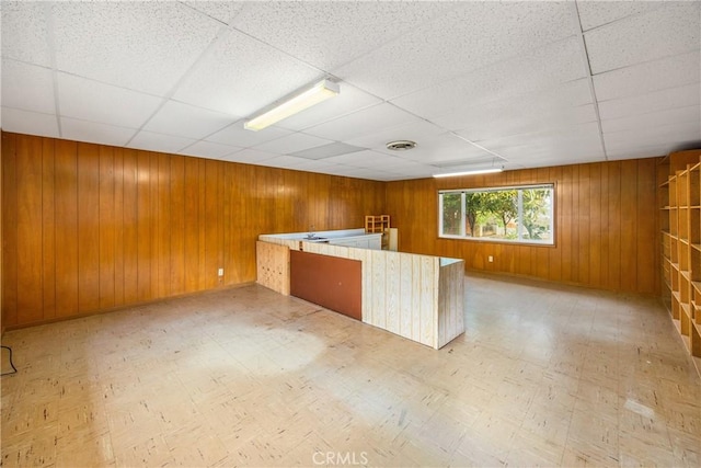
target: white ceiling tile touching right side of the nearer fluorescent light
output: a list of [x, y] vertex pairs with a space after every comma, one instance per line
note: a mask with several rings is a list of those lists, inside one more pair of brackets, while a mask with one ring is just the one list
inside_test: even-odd
[[278, 126], [300, 132], [382, 102], [379, 98], [360, 91], [348, 83], [341, 82], [338, 85], [341, 92], [337, 96], [314, 105], [297, 115], [287, 117], [281, 121]]

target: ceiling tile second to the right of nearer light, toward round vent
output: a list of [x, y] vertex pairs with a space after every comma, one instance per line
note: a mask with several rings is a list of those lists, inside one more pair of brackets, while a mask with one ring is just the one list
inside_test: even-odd
[[346, 140], [388, 127], [418, 122], [420, 118], [392, 104], [383, 103], [308, 128], [306, 134], [331, 140]]

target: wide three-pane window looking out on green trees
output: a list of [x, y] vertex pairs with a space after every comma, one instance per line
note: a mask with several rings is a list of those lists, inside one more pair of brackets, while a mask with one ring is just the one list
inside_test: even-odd
[[451, 239], [554, 243], [554, 185], [438, 192], [438, 236]]

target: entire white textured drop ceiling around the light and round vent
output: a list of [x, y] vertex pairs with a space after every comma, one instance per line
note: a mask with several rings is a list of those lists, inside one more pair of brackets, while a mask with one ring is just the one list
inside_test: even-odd
[[[8, 132], [379, 181], [701, 147], [698, 1], [0, 8]], [[243, 129], [325, 77], [337, 98]]]

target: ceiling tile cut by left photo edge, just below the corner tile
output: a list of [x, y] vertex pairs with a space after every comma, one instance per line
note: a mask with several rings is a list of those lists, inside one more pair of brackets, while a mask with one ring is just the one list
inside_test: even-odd
[[21, 61], [2, 60], [2, 105], [56, 114], [51, 70]]

